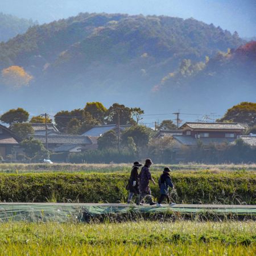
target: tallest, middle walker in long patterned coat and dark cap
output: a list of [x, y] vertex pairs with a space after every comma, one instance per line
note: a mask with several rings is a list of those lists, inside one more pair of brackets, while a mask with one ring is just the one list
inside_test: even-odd
[[143, 205], [142, 200], [145, 197], [148, 197], [150, 201], [150, 205], [156, 204], [151, 196], [151, 190], [149, 185], [149, 181], [151, 180], [153, 184], [155, 184], [154, 179], [150, 173], [150, 166], [152, 165], [151, 159], [146, 159], [145, 165], [142, 167], [141, 172], [139, 174], [139, 202], [138, 205]]

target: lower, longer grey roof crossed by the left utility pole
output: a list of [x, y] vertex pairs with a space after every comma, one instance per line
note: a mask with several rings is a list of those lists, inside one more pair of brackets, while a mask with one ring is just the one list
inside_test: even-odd
[[[34, 139], [38, 139], [42, 143], [46, 143], [46, 136], [32, 135]], [[47, 138], [49, 144], [92, 144], [88, 137], [82, 135], [49, 135]]]

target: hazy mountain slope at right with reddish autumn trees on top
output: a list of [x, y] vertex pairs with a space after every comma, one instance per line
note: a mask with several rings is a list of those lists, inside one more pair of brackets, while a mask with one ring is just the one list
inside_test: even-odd
[[[193, 63], [186, 59], [153, 88], [156, 100], [169, 95], [193, 102], [196, 112], [249, 100], [256, 95], [256, 41]], [[173, 99], [177, 103], [177, 100]]]

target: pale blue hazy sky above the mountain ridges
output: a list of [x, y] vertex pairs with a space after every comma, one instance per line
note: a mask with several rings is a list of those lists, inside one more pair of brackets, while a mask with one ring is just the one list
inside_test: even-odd
[[256, 0], [0, 0], [0, 12], [40, 23], [84, 12], [193, 17], [242, 37], [256, 36]]

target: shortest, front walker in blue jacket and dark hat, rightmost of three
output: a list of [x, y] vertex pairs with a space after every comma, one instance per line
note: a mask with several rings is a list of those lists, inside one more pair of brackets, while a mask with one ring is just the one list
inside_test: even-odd
[[[170, 199], [169, 199], [169, 193], [168, 193], [168, 189], [169, 187], [174, 188], [174, 184], [172, 184], [172, 180], [171, 180], [171, 176], [169, 174], [170, 172], [170, 168], [169, 167], [164, 167], [164, 171], [163, 174], [160, 176], [159, 181], [158, 181], [158, 185], [160, 188], [160, 197], [158, 200], [158, 203], [156, 204], [156, 206], [158, 207], [162, 207], [162, 201], [164, 200], [165, 197], [167, 197], [167, 201], [168, 203], [170, 203]], [[175, 203], [171, 203], [171, 206], [175, 205]]]

